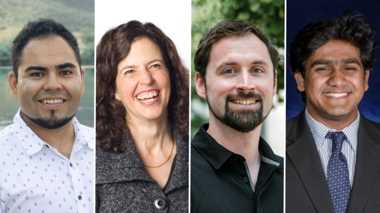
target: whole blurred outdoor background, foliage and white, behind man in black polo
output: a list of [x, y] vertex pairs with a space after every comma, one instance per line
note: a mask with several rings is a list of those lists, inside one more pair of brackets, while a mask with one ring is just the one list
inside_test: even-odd
[[[261, 136], [274, 152], [284, 156], [285, 105], [284, 105], [284, 0], [192, 0], [191, 14], [191, 63], [199, 40], [223, 20], [249, 21], [263, 30], [277, 47], [280, 63], [277, 68], [277, 95], [273, 109], [264, 121]], [[208, 122], [208, 106], [194, 86], [195, 70], [191, 66], [191, 138], [202, 123]]]

